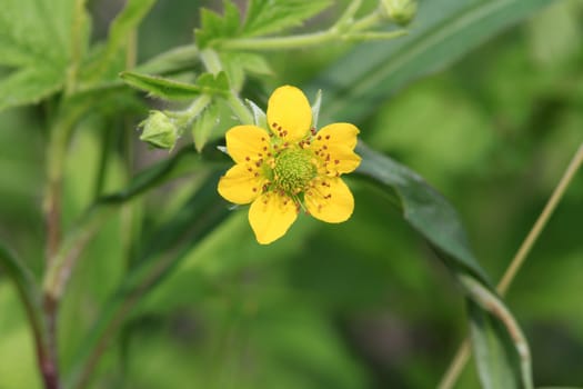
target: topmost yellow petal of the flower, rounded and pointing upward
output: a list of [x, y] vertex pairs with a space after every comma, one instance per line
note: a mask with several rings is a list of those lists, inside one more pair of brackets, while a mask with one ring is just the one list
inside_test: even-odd
[[268, 102], [268, 126], [282, 139], [302, 139], [312, 124], [312, 108], [303, 92], [290, 86], [275, 89]]

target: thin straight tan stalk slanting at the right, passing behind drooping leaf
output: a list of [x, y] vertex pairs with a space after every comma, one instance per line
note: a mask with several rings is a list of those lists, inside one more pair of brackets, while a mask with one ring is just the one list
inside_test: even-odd
[[[541, 215], [536, 219], [536, 222], [530, 230], [529, 235], [522, 242], [522, 245], [519, 248], [519, 251], [516, 251], [516, 255], [512, 259], [510, 266], [507, 267], [506, 271], [504, 272], [504, 276], [502, 277], [502, 280], [496, 287], [497, 292], [501, 296], [504, 296], [510, 288], [510, 285], [516, 277], [519, 270], [521, 269], [522, 265], [524, 263], [524, 260], [526, 259], [526, 256], [533, 248], [534, 243], [539, 239], [542, 230], [549, 222], [549, 219], [553, 215], [554, 210], [556, 209], [556, 206], [563, 198], [566, 189], [569, 188], [570, 183], [573, 181], [573, 178], [575, 177], [575, 173], [579, 171], [579, 169], [583, 166], [583, 143], [580, 144], [577, 151], [575, 152], [575, 156], [569, 163], [565, 172], [563, 173], [563, 177], [559, 181], [559, 184], [554, 189], [553, 193], [551, 194], [551, 198], [544, 206]], [[443, 375], [439, 389], [451, 389], [455, 385], [458, 378], [463, 371], [463, 368], [465, 367], [465, 363], [468, 362], [468, 359], [470, 358], [470, 341], [468, 338], [464, 339], [462, 345], [458, 348], [458, 351], [455, 352], [455, 356]]]

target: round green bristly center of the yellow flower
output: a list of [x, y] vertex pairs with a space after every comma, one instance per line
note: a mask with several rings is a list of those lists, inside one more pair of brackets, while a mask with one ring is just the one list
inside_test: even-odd
[[309, 151], [287, 149], [275, 157], [273, 172], [275, 184], [280, 189], [296, 194], [308, 187], [315, 177], [316, 169]]

